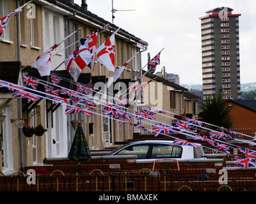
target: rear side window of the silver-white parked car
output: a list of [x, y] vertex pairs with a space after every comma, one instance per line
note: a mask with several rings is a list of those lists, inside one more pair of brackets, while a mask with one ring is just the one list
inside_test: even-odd
[[151, 159], [181, 158], [182, 147], [173, 145], [155, 144]]

